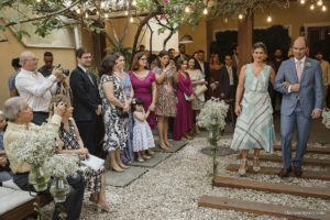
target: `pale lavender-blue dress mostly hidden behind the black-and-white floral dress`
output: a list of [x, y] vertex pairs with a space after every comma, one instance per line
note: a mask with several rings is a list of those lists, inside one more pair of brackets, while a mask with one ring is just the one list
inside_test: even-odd
[[[131, 98], [131, 78], [129, 76], [129, 74], [125, 73], [125, 80], [123, 80], [122, 78], [120, 78], [121, 84], [124, 87], [124, 91], [127, 95], [127, 99]], [[121, 161], [123, 163], [128, 163], [128, 162], [133, 162], [134, 161], [134, 153], [133, 153], [133, 146], [132, 146], [132, 140], [133, 140], [133, 117], [132, 113], [130, 112], [129, 118], [127, 119], [127, 124], [128, 124], [128, 132], [129, 132], [129, 139], [128, 139], [128, 143], [127, 146], [123, 151], [121, 151]]]

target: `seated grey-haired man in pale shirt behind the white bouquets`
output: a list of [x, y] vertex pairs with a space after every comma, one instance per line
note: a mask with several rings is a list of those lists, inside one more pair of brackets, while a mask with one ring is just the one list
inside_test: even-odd
[[[54, 116], [48, 123], [53, 125], [54, 130], [58, 130], [61, 125], [62, 114], [65, 112], [65, 107], [59, 103], [54, 108]], [[3, 136], [4, 150], [10, 161], [10, 167], [13, 172], [13, 182], [23, 190], [29, 190], [29, 173], [30, 165], [25, 162], [19, 162], [13, 154], [11, 154], [9, 144], [22, 138], [24, 129], [37, 129], [37, 125], [31, 123], [33, 119], [32, 108], [21, 97], [13, 97], [8, 99], [3, 106], [3, 113], [9, 119], [8, 128]], [[21, 127], [25, 124], [26, 127]], [[84, 200], [84, 178], [80, 175], [77, 177], [67, 177], [70, 185], [70, 193], [67, 195], [64, 208], [67, 212], [67, 220], [77, 220], [80, 217], [81, 206]], [[33, 188], [31, 189], [33, 190]], [[50, 193], [47, 190], [47, 193]], [[61, 219], [58, 217], [59, 207], [55, 207], [53, 219]]]

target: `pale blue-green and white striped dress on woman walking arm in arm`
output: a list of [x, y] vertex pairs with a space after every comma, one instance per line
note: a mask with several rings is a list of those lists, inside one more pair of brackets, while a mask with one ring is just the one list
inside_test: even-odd
[[276, 141], [273, 123], [273, 109], [267, 87], [271, 67], [255, 76], [252, 64], [246, 65], [244, 95], [241, 101], [242, 112], [238, 118], [231, 148], [264, 148], [273, 153]]

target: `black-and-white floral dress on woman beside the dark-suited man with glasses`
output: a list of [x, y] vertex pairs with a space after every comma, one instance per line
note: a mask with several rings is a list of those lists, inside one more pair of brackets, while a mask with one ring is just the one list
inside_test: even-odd
[[100, 80], [99, 91], [102, 99], [102, 116], [105, 123], [105, 140], [103, 150], [107, 152], [122, 150], [127, 146], [129, 133], [127, 128], [127, 120], [118, 116], [118, 107], [112, 105], [106, 97], [102, 85], [107, 81], [113, 82], [114, 97], [124, 102], [124, 87], [117, 76], [103, 75]]

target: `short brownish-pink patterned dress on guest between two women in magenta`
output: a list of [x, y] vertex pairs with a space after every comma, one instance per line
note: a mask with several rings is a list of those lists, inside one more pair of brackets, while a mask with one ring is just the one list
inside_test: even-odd
[[[161, 75], [163, 69], [154, 67], [153, 73]], [[176, 116], [176, 91], [173, 88], [174, 73], [168, 72], [163, 84], [157, 84], [156, 116], [175, 117]]]

